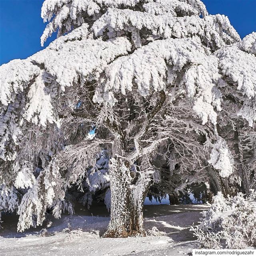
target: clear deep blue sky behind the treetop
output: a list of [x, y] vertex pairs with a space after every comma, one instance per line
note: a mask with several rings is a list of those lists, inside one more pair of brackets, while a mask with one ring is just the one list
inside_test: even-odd
[[[0, 65], [42, 50], [46, 24], [40, 17], [43, 0], [0, 0]], [[256, 0], [203, 0], [210, 14], [225, 14], [243, 38], [256, 31]], [[56, 38], [48, 39], [45, 47]]]

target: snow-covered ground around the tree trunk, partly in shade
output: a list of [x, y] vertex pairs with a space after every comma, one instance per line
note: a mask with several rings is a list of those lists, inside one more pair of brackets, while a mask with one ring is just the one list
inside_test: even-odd
[[[147, 205], [144, 226], [151, 236], [100, 238], [108, 225], [104, 206], [91, 211], [78, 206], [73, 216], [56, 220], [50, 214], [43, 226], [16, 232], [17, 216], [4, 215], [0, 229], [0, 255], [50, 256], [178, 256], [196, 248], [189, 227], [200, 219], [206, 205]], [[101, 212], [100, 216], [94, 216]]]

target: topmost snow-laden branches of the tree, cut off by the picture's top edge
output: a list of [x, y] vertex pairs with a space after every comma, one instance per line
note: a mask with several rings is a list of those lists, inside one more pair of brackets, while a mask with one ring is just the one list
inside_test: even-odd
[[166, 12], [172, 11], [174, 16], [176, 13], [182, 13], [184, 16], [186, 14], [202, 14], [203, 16], [208, 14], [200, 0], [158, 0], [153, 6], [147, 6], [151, 3], [150, 0], [46, 0], [42, 6], [41, 17], [44, 22], [49, 21], [49, 23], [41, 37], [41, 44], [43, 45], [48, 36], [57, 30], [58, 36], [61, 36], [85, 22], [96, 20], [104, 14], [104, 10], [108, 7], [136, 8], [138, 5], [137, 8], [139, 8], [141, 3], [145, 3], [143, 9], [146, 11], [150, 11], [152, 8], [168, 9]]

